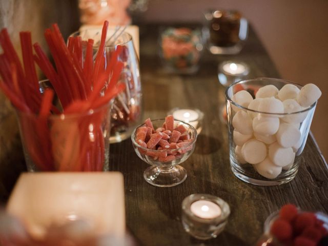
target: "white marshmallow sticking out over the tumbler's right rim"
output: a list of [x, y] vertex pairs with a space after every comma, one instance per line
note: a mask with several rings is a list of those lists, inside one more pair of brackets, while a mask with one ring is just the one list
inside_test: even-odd
[[296, 99], [300, 106], [307, 108], [313, 105], [320, 96], [321, 91], [316, 85], [307, 84], [302, 87]]

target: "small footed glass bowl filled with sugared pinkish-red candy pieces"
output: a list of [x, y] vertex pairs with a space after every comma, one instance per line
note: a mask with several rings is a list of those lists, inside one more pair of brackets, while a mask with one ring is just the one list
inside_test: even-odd
[[194, 152], [196, 138], [193, 126], [172, 116], [147, 119], [135, 128], [131, 135], [133, 149], [151, 165], [144, 172], [146, 181], [157, 187], [177, 186], [185, 181], [187, 171], [179, 164]]

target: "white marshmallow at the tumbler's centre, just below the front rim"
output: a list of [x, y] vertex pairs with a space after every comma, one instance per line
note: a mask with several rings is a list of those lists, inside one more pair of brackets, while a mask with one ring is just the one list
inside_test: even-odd
[[254, 132], [261, 135], [273, 135], [279, 129], [279, 118], [277, 117], [263, 117], [258, 115], [253, 119]]

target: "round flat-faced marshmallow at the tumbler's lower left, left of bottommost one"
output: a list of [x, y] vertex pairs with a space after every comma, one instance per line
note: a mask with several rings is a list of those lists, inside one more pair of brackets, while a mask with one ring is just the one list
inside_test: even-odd
[[263, 142], [250, 139], [241, 148], [242, 157], [251, 164], [257, 164], [267, 156], [267, 146]]

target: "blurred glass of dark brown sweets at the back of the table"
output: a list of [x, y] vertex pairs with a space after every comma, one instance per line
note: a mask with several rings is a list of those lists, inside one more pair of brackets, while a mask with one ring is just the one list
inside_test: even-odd
[[248, 21], [235, 10], [204, 13], [203, 34], [212, 54], [237, 54], [248, 36]]

